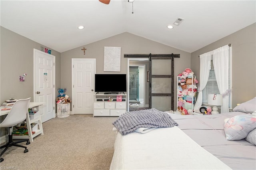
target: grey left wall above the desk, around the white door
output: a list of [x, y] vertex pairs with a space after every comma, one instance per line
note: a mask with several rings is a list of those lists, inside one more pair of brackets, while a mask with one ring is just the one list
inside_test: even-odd
[[[1, 60], [0, 60], [0, 102], [14, 97], [24, 99], [31, 97], [34, 101], [34, 48], [41, 50], [42, 44], [20, 36], [4, 27], [0, 27], [1, 35]], [[50, 49], [50, 47], [46, 47]], [[56, 61], [56, 87], [60, 86], [60, 53], [52, 49]], [[24, 82], [19, 81], [19, 76], [27, 74]], [[58, 91], [56, 88], [56, 95]]]

